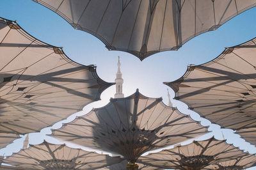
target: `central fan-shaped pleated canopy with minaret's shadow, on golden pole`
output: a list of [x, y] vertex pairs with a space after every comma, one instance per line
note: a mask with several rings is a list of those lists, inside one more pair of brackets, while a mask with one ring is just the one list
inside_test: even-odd
[[193, 121], [162, 98], [136, 93], [111, 99], [109, 104], [52, 130], [52, 137], [96, 150], [123, 155], [130, 163], [141, 154], [205, 134], [207, 127]]

